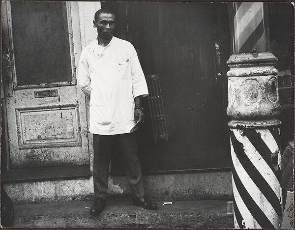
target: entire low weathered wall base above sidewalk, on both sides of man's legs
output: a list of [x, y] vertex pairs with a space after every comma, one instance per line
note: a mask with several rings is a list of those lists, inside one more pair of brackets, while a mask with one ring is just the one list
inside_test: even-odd
[[[222, 182], [222, 183], [221, 183]], [[146, 195], [156, 200], [231, 199], [230, 172], [144, 176]], [[93, 195], [93, 180], [58, 180], [5, 184], [15, 203], [82, 200]], [[125, 176], [110, 177], [109, 195], [131, 195]]]

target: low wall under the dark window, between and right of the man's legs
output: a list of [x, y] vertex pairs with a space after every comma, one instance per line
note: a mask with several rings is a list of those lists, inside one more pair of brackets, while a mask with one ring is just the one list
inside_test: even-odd
[[[143, 180], [146, 195], [154, 199], [198, 200], [232, 197], [231, 172], [145, 175]], [[110, 177], [109, 182], [112, 187], [116, 186], [117, 191], [121, 188], [122, 195], [130, 194], [126, 177]], [[113, 194], [112, 190], [108, 193]]]

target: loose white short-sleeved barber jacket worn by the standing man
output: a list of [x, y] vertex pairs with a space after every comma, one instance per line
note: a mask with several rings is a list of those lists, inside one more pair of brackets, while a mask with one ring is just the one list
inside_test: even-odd
[[117, 37], [106, 46], [97, 40], [83, 49], [78, 84], [90, 94], [89, 132], [129, 133], [135, 126], [134, 98], [148, 95], [148, 86], [133, 45]]

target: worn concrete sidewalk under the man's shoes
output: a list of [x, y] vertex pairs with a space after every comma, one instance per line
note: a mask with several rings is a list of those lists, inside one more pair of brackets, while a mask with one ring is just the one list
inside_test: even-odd
[[108, 197], [99, 216], [91, 216], [91, 199], [14, 206], [15, 228], [234, 228], [227, 201], [173, 201], [158, 210], [133, 206], [130, 197]]

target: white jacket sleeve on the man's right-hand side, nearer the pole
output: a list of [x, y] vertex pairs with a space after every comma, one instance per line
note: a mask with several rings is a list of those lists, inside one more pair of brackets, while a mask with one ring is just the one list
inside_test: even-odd
[[136, 50], [132, 45], [131, 57], [131, 74], [132, 74], [132, 92], [133, 98], [137, 96], [148, 96], [148, 86], [143, 69], [137, 57]]

